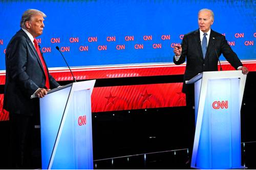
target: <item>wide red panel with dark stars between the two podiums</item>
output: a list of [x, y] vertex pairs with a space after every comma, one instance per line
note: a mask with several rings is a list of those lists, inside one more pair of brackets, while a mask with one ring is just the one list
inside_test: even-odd
[[96, 87], [92, 112], [185, 106], [182, 83]]

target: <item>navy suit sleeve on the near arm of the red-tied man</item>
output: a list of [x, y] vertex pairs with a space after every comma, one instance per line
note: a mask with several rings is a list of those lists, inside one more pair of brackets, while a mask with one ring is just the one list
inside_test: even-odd
[[39, 87], [29, 78], [27, 65], [26, 39], [17, 37], [8, 46], [6, 67], [9, 76], [19, 85], [25, 94], [31, 96]]

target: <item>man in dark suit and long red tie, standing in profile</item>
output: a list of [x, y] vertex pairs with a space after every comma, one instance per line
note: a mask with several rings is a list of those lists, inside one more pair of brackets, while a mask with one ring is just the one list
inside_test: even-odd
[[35, 38], [43, 34], [46, 15], [38, 10], [24, 12], [21, 29], [9, 42], [6, 55], [4, 109], [9, 111], [11, 125], [11, 156], [13, 169], [31, 169], [32, 136], [39, 123], [39, 98], [59, 87], [49, 74]]

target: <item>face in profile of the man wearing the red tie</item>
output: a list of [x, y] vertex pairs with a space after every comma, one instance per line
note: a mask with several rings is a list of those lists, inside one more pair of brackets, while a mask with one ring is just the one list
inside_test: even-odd
[[33, 35], [34, 38], [43, 34], [43, 21], [44, 19], [42, 15], [35, 15], [32, 16], [30, 21], [26, 22], [27, 30], [30, 34]]

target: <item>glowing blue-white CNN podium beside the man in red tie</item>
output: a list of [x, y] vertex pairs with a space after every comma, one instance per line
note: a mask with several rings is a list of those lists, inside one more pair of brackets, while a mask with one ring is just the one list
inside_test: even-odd
[[91, 94], [96, 80], [40, 98], [42, 169], [93, 169]]

